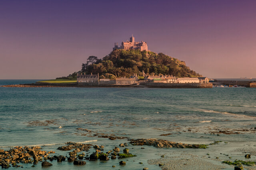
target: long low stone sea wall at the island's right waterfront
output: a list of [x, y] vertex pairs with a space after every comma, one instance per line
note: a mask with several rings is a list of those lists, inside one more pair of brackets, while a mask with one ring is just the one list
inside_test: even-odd
[[158, 88], [212, 88], [212, 83], [156, 83], [144, 82], [140, 85]]

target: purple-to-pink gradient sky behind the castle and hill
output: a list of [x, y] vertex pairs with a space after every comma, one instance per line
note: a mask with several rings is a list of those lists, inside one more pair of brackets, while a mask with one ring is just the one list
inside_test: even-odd
[[0, 79], [50, 79], [134, 35], [210, 78], [256, 77], [255, 0], [1, 0]]

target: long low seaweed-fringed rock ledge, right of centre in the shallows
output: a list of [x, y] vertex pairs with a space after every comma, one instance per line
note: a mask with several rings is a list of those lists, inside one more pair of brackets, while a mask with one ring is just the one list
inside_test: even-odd
[[131, 139], [130, 143], [132, 143], [132, 145], [148, 145], [156, 148], [200, 148], [200, 145], [176, 143], [162, 139]]

